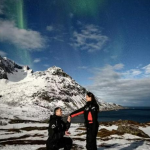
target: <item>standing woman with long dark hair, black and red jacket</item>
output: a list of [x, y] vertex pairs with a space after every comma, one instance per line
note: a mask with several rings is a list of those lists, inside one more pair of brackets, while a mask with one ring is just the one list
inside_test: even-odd
[[86, 101], [87, 103], [84, 107], [72, 112], [70, 116], [75, 117], [77, 115], [84, 114], [85, 126], [87, 130], [86, 148], [87, 150], [97, 150], [96, 136], [99, 127], [97, 120], [99, 106], [94, 94], [91, 92], [86, 94]]

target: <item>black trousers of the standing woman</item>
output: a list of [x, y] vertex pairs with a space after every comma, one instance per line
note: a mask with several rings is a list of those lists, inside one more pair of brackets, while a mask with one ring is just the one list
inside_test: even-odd
[[86, 148], [87, 150], [97, 150], [96, 137], [98, 132], [98, 126], [93, 131], [92, 124], [89, 124], [87, 127], [86, 135]]

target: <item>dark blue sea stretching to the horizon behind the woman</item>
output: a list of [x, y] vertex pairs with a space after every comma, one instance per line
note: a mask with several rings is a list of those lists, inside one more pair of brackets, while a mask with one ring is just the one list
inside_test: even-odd
[[[101, 111], [98, 114], [99, 122], [118, 120], [132, 120], [139, 123], [150, 122], [150, 106], [124, 106], [126, 109]], [[83, 115], [72, 118], [74, 123], [83, 123]]]

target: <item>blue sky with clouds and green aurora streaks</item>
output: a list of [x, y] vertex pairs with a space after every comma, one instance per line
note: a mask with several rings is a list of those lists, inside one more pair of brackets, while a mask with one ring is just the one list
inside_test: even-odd
[[150, 106], [149, 0], [0, 0], [0, 55], [57, 66], [106, 102]]

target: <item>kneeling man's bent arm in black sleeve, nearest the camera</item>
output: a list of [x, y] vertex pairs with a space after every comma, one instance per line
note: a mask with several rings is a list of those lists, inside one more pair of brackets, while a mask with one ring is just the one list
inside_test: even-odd
[[49, 136], [53, 140], [58, 140], [65, 135], [65, 131], [58, 132], [58, 126], [56, 125], [56, 120], [51, 120], [49, 124]]

